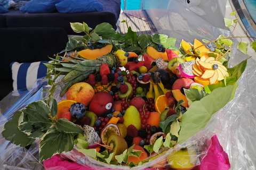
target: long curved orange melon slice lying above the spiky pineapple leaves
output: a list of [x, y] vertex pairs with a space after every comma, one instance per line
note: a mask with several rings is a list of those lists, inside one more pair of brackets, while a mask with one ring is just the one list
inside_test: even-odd
[[95, 60], [98, 57], [106, 55], [111, 52], [112, 45], [106, 45], [105, 47], [98, 48], [98, 49], [84, 49], [78, 52], [79, 56], [86, 58], [88, 60]]

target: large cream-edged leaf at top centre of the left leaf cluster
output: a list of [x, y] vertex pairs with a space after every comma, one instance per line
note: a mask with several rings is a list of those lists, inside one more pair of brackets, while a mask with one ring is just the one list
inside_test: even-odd
[[19, 129], [29, 138], [40, 139], [51, 127], [50, 108], [43, 100], [28, 104], [19, 117]]

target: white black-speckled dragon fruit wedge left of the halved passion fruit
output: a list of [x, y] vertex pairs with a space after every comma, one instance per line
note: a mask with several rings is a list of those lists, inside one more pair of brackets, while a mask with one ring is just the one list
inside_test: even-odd
[[[101, 143], [101, 139], [98, 133], [94, 130], [94, 128], [89, 125], [84, 125], [83, 131], [84, 131], [84, 134], [86, 135], [85, 140], [89, 142], [88, 149], [98, 147], [99, 145], [97, 143]], [[94, 142], [97, 142], [97, 143], [94, 143]]]

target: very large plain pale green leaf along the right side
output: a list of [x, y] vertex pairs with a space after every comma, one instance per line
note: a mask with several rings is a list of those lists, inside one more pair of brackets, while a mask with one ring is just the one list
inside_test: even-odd
[[178, 142], [181, 144], [204, 129], [212, 115], [234, 98], [237, 87], [238, 84], [235, 83], [234, 86], [214, 89], [210, 95], [194, 101], [182, 116]]

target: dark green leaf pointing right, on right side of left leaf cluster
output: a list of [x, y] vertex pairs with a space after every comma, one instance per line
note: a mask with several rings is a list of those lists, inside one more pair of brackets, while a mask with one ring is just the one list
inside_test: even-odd
[[64, 133], [81, 133], [84, 134], [84, 131], [73, 122], [67, 120], [67, 118], [59, 118], [55, 123], [55, 127], [58, 131]]

